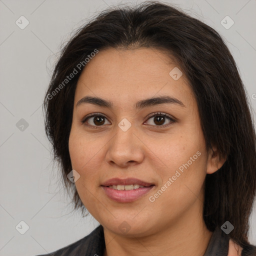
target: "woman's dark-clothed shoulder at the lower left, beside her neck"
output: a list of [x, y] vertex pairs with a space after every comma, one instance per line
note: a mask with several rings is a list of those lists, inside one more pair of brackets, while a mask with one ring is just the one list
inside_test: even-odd
[[[104, 249], [104, 235], [103, 227], [99, 225], [88, 235], [84, 236], [80, 240], [73, 242], [63, 248], [50, 253], [51, 256], [79, 256], [79, 255], [89, 255], [101, 248]], [[47, 254], [40, 254], [37, 256], [48, 256]], [[93, 255], [93, 254], [92, 254]]]

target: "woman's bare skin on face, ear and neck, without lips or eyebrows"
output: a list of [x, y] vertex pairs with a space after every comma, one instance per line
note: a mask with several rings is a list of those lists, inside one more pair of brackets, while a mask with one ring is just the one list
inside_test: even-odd
[[[83, 69], [75, 91], [69, 153], [80, 177], [78, 194], [104, 228], [104, 256], [203, 255], [212, 232], [202, 218], [204, 179], [224, 162], [207, 152], [195, 97], [184, 74], [174, 80], [178, 65], [163, 51], [151, 48], [99, 50]], [[179, 68], [180, 69], [180, 68]], [[103, 107], [76, 103], [84, 96], [112, 101]], [[183, 106], [164, 103], [135, 109], [141, 99], [168, 95]], [[157, 125], [151, 113], [166, 113]], [[103, 124], [82, 119], [90, 113], [105, 116]], [[157, 114], [156, 114], [157, 116]], [[127, 131], [118, 127], [126, 118]], [[94, 126], [93, 126], [94, 125]], [[163, 127], [166, 125], [165, 127]], [[157, 128], [158, 127], [158, 128]], [[197, 151], [201, 154], [155, 201], [149, 196]], [[136, 177], [154, 184], [133, 202], [116, 202], [100, 186], [112, 177]], [[128, 232], [119, 225], [126, 221]], [[231, 254], [238, 255], [238, 254]]]

